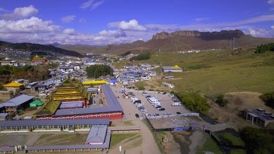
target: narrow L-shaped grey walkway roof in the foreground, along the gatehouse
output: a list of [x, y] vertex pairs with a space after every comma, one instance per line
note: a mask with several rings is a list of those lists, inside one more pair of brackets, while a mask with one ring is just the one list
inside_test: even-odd
[[107, 132], [105, 144], [85, 145], [54, 145], [54, 146], [27, 146], [25, 150], [51, 150], [51, 149], [88, 149], [88, 148], [109, 148], [111, 131]]

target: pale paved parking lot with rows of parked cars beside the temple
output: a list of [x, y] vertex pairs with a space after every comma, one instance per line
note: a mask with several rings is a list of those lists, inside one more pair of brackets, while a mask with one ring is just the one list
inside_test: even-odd
[[[111, 87], [116, 97], [119, 96], [118, 101], [123, 107], [124, 110], [124, 117], [127, 120], [136, 120], [135, 113], [138, 113], [141, 117], [142, 113], [141, 111], [135, 107], [133, 102], [130, 102], [130, 98], [126, 99], [122, 97], [122, 93], [119, 93], [120, 88]], [[158, 100], [161, 103], [161, 106], [165, 108], [163, 111], [159, 111], [157, 108], [155, 108], [147, 99], [145, 96], [142, 95], [142, 92], [139, 91], [131, 91], [134, 93], [135, 97], [141, 100], [142, 104], [144, 104], [145, 109], [147, 110], [146, 113], [149, 114], [155, 114], [158, 113], [160, 115], [163, 115], [164, 113], [170, 113], [170, 114], [176, 114], [176, 112], [181, 113], [189, 113], [189, 111], [182, 105], [182, 106], [172, 106], [173, 100], [171, 97], [168, 97], [163, 94], [158, 94], [157, 92], [147, 92], [150, 96], [157, 96], [157, 98], [160, 98]]]

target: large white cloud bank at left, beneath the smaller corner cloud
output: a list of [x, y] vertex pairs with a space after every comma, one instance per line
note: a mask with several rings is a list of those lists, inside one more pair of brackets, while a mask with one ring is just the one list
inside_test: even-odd
[[0, 20], [0, 33], [36, 33], [58, 31], [60, 26], [53, 25], [51, 20], [43, 21], [37, 17], [16, 21]]

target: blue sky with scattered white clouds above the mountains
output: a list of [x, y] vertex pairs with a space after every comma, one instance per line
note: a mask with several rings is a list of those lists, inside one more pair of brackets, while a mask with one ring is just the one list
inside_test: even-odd
[[106, 45], [176, 30], [241, 29], [274, 37], [274, 0], [2, 0], [0, 40]]

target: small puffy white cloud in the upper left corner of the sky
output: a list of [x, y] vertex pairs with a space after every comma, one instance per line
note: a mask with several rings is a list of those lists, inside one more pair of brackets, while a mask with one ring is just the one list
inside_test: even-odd
[[33, 14], [37, 14], [38, 10], [30, 5], [29, 7], [23, 8], [15, 8], [12, 13], [1, 14], [0, 18], [7, 19], [7, 20], [14, 20], [18, 18], [26, 18]]

